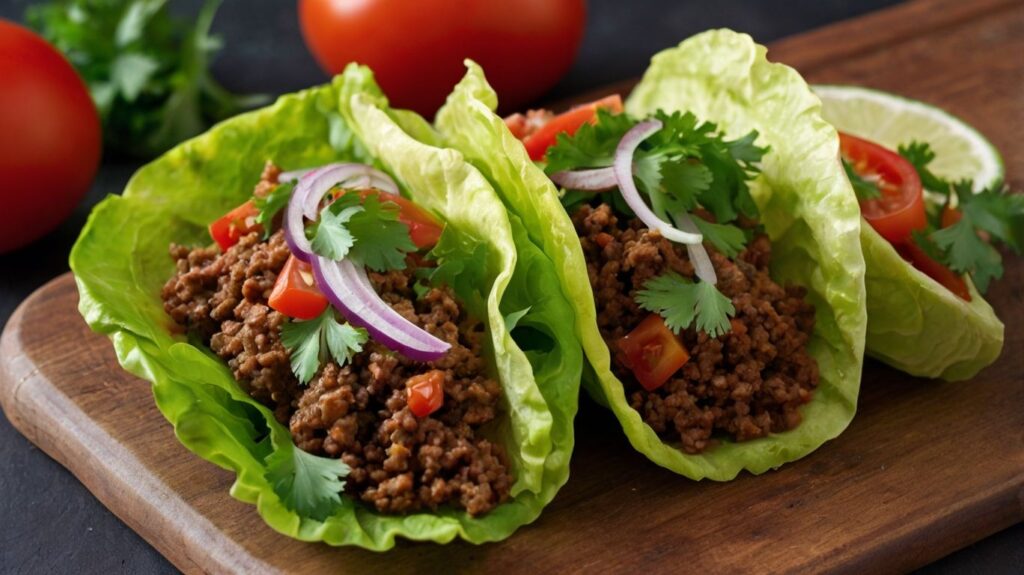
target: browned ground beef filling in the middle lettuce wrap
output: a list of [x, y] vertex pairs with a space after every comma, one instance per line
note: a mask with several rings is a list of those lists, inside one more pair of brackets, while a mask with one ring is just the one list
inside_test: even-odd
[[[686, 249], [638, 219], [620, 220], [607, 205], [584, 206], [572, 216], [587, 259], [601, 335], [615, 342], [650, 312], [634, 301], [650, 278], [674, 270], [693, 277]], [[818, 365], [807, 353], [814, 307], [803, 288], [782, 288], [768, 275], [771, 244], [756, 236], [734, 261], [709, 248], [718, 288], [736, 309], [732, 329], [709, 338], [681, 333], [689, 361], [660, 388], [648, 392], [614, 357], [630, 404], [659, 435], [687, 453], [712, 447], [722, 436], [763, 437], [800, 424], [800, 406], [818, 385]]]

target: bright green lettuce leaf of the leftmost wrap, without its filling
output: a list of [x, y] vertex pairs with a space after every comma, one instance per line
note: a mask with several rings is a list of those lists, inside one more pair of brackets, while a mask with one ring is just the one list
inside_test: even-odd
[[[392, 547], [396, 537], [495, 541], [537, 519], [568, 478], [583, 354], [568, 327], [568, 303], [545, 290], [558, 281], [550, 260], [528, 242], [517, 250], [521, 224], [460, 154], [403, 129], [436, 142], [425, 121], [387, 107], [368, 70], [350, 67], [331, 85], [218, 124], [144, 166], [122, 195], [93, 210], [72, 250], [79, 310], [90, 327], [111, 338], [128, 371], [153, 384], [157, 406], [181, 443], [237, 474], [230, 494], [255, 503], [271, 528], [297, 539], [373, 550]], [[316, 521], [288, 508], [273, 491], [266, 460], [297, 449], [288, 430], [209, 349], [175, 335], [160, 299], [173, 273], [168, 245], [209, 244], [206, 224], [250, 195], [269, 159], [289, 169], [374, 163], [459, 237], [485, 245], [486, 284], [475, 286], [485, 307], [476, 311], [486, 315], [488, 356], [505, 391], [500, 422], [486, 433], [509, 452], [515, 483], [508, 502], [478, 518], [447, 507], [392, 516], [343, 496], [334, 515]], [[524, 352], [502, 313], [526, 308], [513, 330], [535, 336]]]

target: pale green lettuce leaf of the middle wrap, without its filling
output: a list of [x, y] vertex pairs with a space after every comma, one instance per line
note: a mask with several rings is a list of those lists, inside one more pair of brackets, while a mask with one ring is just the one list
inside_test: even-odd
[[867, 322], [859, 207], [820, 101], [796, 71], [768, 62], [765, 53], [746, 35], [697, 35], [655, 55], [627, 101], [627, 110], [638, 117], [657, 108], [690, 110], [732, 137], [759, 131], [759, 144], [771, 151], [752, 191], [773, 240], [772, 275], [806, 286], [817, 310], [809, 349], [821, 378], [814, 399], [802, 408], [803, 423], [748, 442], [724, 441], [698, 455], [663, 441], [630, 407], [610, 369], [583, 251], [558, 190], [495, 115], [497, 97], [479, 67], [467, 61], [466, 77], [436, 120], [444, 142], [495, 183], [555, 262], [589, 363], [586, 389], [611, 409], [637, 450], [691, 479], [726, 481], [742, 470], [778, 468], [837, 437], [856, 411]]

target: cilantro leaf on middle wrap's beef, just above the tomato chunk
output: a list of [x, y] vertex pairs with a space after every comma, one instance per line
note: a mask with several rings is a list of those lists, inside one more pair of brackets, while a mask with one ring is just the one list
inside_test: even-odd
[[674, 271], [649, 279], [637, 292], [641, 308], [654, 312], [678, 334], [694, 325], [717, 338], [731, 329], [729, 317], [736, 313], [729, 298], [707, 281], [692, 282]]

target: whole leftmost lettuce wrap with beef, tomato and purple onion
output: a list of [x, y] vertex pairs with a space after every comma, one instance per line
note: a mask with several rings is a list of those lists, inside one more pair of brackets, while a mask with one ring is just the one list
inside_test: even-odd
[[572, 310], [434, 139], [350, 67], [143, 167], [72, 252], [89, 325], [292, 537], [493, 541], [567, 479]]

